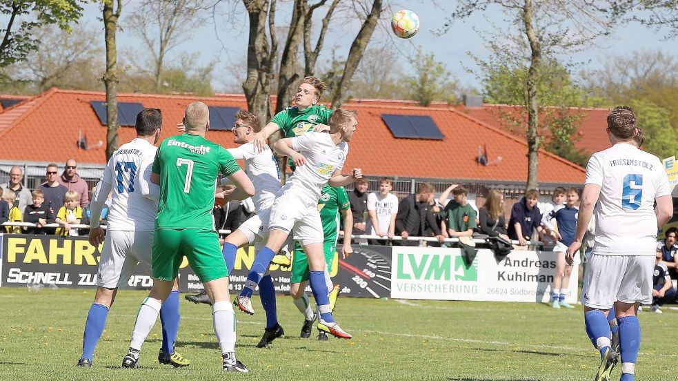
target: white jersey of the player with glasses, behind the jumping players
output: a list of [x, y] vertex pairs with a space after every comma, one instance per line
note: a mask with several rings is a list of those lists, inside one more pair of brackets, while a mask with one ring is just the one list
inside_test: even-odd
[[255, 186], [253, 201], [257, 213], [270, 208], [275, 195], [280, 190], [280, 171], [273, 153], [268, 146], [258, 152], [254, 142], [243, 144], [237, 148], [229, 148], [228, 153], [235, 159], [245, 159], [245, 173]]

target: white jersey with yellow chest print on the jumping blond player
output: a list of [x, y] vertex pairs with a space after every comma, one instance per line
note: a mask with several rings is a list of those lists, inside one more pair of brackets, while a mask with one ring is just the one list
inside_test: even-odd
[[343, 169], [348, 156], [348, 144], [335, 145], [328, 133], [305, 133], [292, 137], [292, 148], [306, 157], [306, 164], [297, 166], [285, 185], [285, 191], [294, 189], [308, 205], [317, 205], [323, 186], [336, 170]]

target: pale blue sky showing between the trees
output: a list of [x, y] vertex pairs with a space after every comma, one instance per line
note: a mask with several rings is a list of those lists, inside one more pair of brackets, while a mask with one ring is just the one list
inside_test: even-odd
[[[130, 0], [123, 6], [121, 21], [124, 23], [126, 14], [131, 12], [138, 0]], [[279, 6], [276, 16], [276, 24], [285, 26], [290, 19], [290, 0], [278, 0]], [[315, 2], [315, 1], [312, 1]], [[443, 35], [437, 34], [447, 22], [447, 15], [452, 12], [456, 1], [453, 0], [409, 0], [390, 1], [391, 8], [381, 16], [381, 26], [375, 31], [371, 44], [385, 44], [388, 48], [396, 50], [402, 59], [398, 64], [405, 72], [412, 73], [412, 59], [419, 54], [434, 53], [437, 61], [443, 62], [459, 85], [463, 88], [477, 88], [480, 83], [477, 79], [479, 67], [468, 55], [485, 59], [489, 57], [490, 50], [486, 46], [484, 36], [489, 36], [492, 31], [492, 23], [499, 28], [510, 26], [503, 21], [506, 17], [501, 8], [490, 8], [486, 12], [478, 12], [472, 17], [456, 21]], [[421, 29], [412, 39], [398, 39], [388, 28], [392, 12], [400, 9], [410, 9], [419, 15]], [[169, 57], [179, 59], [181, 55], [194, 55], [198, 57], [199, 65], [215, 64], [215, 80], [212, 85], [217, 92], [228, 92], [238, 89], [241, 78], [232, 75], [232, 68], [244, 66], [247, 40], [248, 18], [241, 1], [222, 0], [219, 5], [218, 15], [215, 22], [212, 19], [197, 30], [192, 30], [188, 39], [170, 51]], [[90, 26], [99, 28], [100, 11], [97, 6], [86, 6], [83, 21]], [[337, 55], [346, 57], [353, 37], [360, 27], [358, 19], [335, 17], [330, 23], [325, 49], [319, 57], [319, 64], [330, 59], [330, 50], [336, 49]], [[319, 25], [320, 19], [315, 20]], [[350, 36], [347, 38], [346, 36]], [[279, 51], [282, 49], [286, 31], [279, 32], [282, 39]], [[664, 41], [662, 32], [657, 32], [637, 23], [617, 26], [612, 35], [604, 39], [597, 39], [595, 44], [587, 46], [581, 52], [562, 59], [571, 59], [581, 64], [580, 68], [595, 70], [601, 68], [607, 55], [617, 55], [619, 52], [631, 54], [634, 50], [652, 49], [668, 53], [675, 51], [675, 41]], [[139, 46], [139, 39], [129, 28], [123, 28], [118, 35], [120, 51], [124, 54], [132, 54]], [[101, 41], [103, 41], [103, 36]], [[103, 45], [103, 43], [102, 43]], [[244, 77], [244, 72], [240, 74]]]

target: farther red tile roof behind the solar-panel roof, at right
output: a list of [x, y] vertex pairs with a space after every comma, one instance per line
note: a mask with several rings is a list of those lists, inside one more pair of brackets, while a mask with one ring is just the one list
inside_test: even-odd
[[[506, 123], [506, 115], [522, 115], [524, 123], [527, 123], [527, 116], [524, 106], [508, 106], [503, 104], [485, 104], [483, 107], [455, 106], [462, 113], [470, 115], [479, 121], [483, 121], [490, 126], [495, 126], [510, 133], [518, 133], [525, 136], [525, 128], [511, 128]], [[610, 112], [609, 108], [569, 108], [570, 114], [582, 115], [579, 121], [577, 137], [575, 137], [575, 146], [581, 148], [586, 153], [595, 153], [610, 147], [608, 135], [605, 132], [607, 127], [606, 118]]]

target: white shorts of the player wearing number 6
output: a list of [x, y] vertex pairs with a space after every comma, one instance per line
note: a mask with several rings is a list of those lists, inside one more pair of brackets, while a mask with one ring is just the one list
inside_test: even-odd
[[595, 309], [610, 309], [615, 302], [652, 302], [651, 255], [600, 255], [592, 253], [586, 264], [581, 303]]

